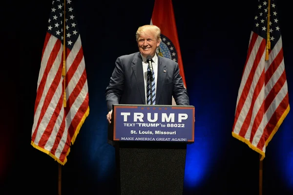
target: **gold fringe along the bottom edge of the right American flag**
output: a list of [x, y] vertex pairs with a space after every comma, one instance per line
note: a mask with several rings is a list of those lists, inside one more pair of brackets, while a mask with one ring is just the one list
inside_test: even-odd
[[[271, 133], [270, 137], [266, 141], [266, 147], [268, 146], [269, 142], [272, 140], [272, 137], [274, 136], [274, 134], [277, 132], [277, 130], [279, 129], [279, 127], [283, 123], [283, 121], [286, 118], [286, 116], [289, 113], [289, 111], [290, 111], [290, 105], [288, 105], [288, 107], [284, 111], [283, 115], [281, 116], [280, 120], [276, 124], [275, 128], [272, 130], [272, 133]], [[259, 154], [261, 154], [260, 160], [263, 160], [265, 158], [265, 156], [266, 156], [265, 152], [263, 152], [262, 150], [258, 149], [256, 146], [253, 146], [249, 140], [245, 139], [244, 137], [241, 137], [240, 135], [238, 135], [238, 134], [236, 134], [234, 132], [232, 132], [232, 136], [235, 137], [236, 139], [246, 143], [255, 152], [258, 152]]]

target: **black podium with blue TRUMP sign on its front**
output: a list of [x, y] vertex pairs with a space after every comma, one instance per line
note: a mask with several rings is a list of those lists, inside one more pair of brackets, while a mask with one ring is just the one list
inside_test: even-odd
[[113, 105], [108, 143], [115, 147], [118, 195], [182, 195], [193, 106]]

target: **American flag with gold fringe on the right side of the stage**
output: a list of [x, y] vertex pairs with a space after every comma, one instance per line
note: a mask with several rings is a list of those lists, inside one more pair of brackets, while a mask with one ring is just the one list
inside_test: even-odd
[[[268, 50], [267, 40], [271, 43]], [[276, 0], [258, 0], [238, 91], [232, 136], [260, 153], [260, 160], [263, 160], [266, 147], [289, 110]]]

